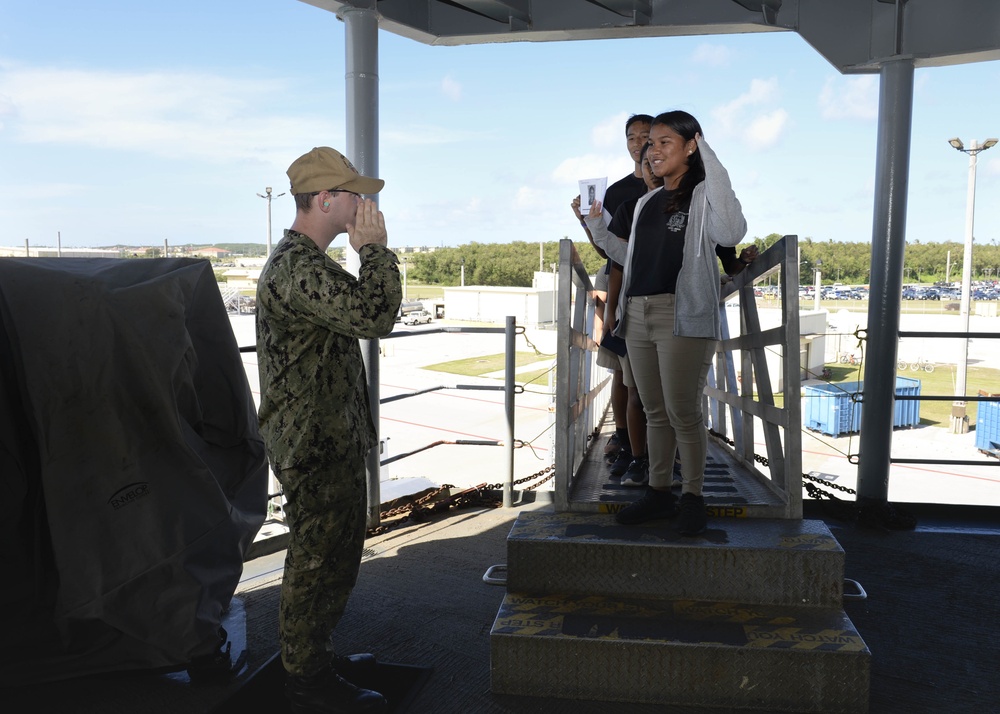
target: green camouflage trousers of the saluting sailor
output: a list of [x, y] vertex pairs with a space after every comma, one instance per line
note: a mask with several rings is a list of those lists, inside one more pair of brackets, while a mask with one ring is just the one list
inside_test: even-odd
[[364, 461], [277, 474], [285, 494], [288, 550], [278, 612], [281, 660], [293, 675], [323, 669], [347, 607], [365, 541]]

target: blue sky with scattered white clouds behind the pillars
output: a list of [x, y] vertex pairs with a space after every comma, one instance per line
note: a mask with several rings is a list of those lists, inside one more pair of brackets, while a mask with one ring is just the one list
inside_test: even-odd
[[[390, 245], [580, 240], [577, 181], [627, 173], [625, 118], [674, 108], [748, 237], [871, 239], [878, 77], [793, 33], [379, 43]], [[998, 87], [1000, 62], [917, 70], [909, 241], [964, 240], [969, 162], [947, 140], [1000, 136]], [[344, 103], [344, 26], [297, 0], [0, 0], [0, 246], [264, 243], [257, 194], [346, 148]], [[998, 191], [1000, 147], [979, 157], [977, 243], [1000, 240]], [[293, 215], [272, 202], [275, 241]]]

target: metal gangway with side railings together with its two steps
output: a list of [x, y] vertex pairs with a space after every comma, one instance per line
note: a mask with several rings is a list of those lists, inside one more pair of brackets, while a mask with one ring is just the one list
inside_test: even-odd
[[[843, 610], [844, 551], [822, 521], [802, 519], [797, 253], [785, 236], [721, 291], [723, 315], [738, 300], [739, 325], [724, 322], [704, 395], [711, 517], [685, 537], [667, 518], [609, 517], [638, 494], [607, 478], [594, 448], [609, 378], [595, 366], [593, 286], [562, 241], [554, 508], [521, 514], [507, 537], [491, 691], [867, 711], [870, 652]], [[774, 275], [783, 307], [765, 326], [753, 286]]]

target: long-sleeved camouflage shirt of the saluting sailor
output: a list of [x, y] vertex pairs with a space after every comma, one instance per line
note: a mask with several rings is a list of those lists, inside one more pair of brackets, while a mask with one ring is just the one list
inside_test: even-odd
[[286, 230], [257, 285], [260, 430], [271, 467], [363, 458], [375, 444], [358, 339], [392, 331], [398, 260], [362, 246], [358, 277]]

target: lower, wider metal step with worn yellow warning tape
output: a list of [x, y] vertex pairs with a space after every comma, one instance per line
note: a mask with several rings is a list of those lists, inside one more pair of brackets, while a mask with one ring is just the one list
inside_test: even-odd
[[508, 590], [490, 634], [495, 694], [725, 710], [863, 714], [870, 660], [815, 607]]

